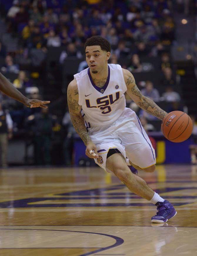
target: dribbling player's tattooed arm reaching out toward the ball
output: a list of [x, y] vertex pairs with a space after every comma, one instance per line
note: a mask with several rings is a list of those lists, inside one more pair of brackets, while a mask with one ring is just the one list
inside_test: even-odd
[[163, 118], [168, 114], [166, 111], [161, 109], [157, 104], [150, 98], [144, 96], [139, 88], [136, 86], [135, 79], [131, 72], [122, 68], [124, 81], [127, 87], [127, 94], [131, 99], [143, 110], [149, 114], [156, 116], [158, 119], [163, 120]]

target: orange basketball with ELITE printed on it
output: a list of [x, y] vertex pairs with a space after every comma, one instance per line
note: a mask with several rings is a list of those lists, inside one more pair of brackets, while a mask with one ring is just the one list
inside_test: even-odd
[[166, 139], [172, 142], [187, 140], [193, 129], [191, 118], [182, 111], [172, 111], [164, 117], [161, 131]]

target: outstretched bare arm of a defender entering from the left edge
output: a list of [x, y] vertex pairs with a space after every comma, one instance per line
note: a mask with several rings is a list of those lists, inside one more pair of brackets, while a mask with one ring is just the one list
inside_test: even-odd
[[20, 93], [9, 81], [5, 76], [0, 73], [0, 91], [2, 91], [7, 96], [20, 101], [26, 107], [29, 108], [36, 108], [41, 107], [46, 109], [47, 106], [45, 104], [49, 104], [50, 101], [40, 101], [36, 99], [28, 99], [22, 93]]

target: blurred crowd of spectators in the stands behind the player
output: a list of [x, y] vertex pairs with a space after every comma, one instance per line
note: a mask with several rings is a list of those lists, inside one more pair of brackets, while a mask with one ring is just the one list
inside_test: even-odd
[[[192, 2], [196, 8], [196, 1]], [[29, 98], [42, 99], [42, 87], [34, 78], [43, 74], [48, 76], [45, 64], [49, 49], [63, 48], [59, 56], [60, 66], [66, 59], [81, 59], [80, 72], [87, 68], [86, 61], [82, 60], [84, 42], [91, 36], [101, 35], [111, 44], [110, 63], [121, 64], [132, 73], [161, 72], [159, 86], [150, 80], [138, 84], [143, 95], [155, 102], [167, 102], [168, 112], [183, 111], [181, 91], [177, 90], [179, 78], [171, 58], [171, 45], [176, 40], [173, 8], [176, 6], [180, 12], [186, 10], [186, 15], [189, 15], [196, 11], [190, 4], [181, 0], [14, 0], [12, 3], [2, 0], [0, 14], [6, 24], [6, 33], [18, 41], [15, 50], [8, 50], [6, 37], [0, 37], [0, 70]], [[157, 65], [151, 58], [157, 58]], [[157, 130], [153, 116], [138, 109], [127, 96], [126, 100], [147, 131]], [[63, 129], [66, 134], [62, 150], [64, 159], [68, 159], [65, 164], [70, 164], [68, 149], [72, 146], [75, 131], [67, 111], [64, 117], [58, 117], [47, 111], [26, 109], [2, 94], [0, 101], [4, 109], [10, 110], [14, 131], [31, 127], [37, 164], [41, 164], [38, 157], [41, 148], [43, 163], [51, 163], [49, 151], [53, 134], [62, 130], [59, 126], [66, 127]], [[43, 119], [48, 120], [46, 127], [49, 132], [46, 132]], [[36, 130], [38, 125], [40, 128]]]

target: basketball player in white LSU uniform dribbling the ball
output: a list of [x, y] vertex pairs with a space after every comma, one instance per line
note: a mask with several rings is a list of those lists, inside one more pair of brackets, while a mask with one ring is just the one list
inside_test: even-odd
[[135, 175], [137, 169], [153, 172], [156, 157], [135, 112], [126, 108], [124, 93], [160, 120], [167, 113], [141, 94], [128, 70], [108, 64], [111, 46], [107, 40], [91, 37], [84, 48], [89, 68], [74, 75], [67, 97], [71, 121], [86, 145], [86, 155], [115, 174], [133, 193], [157, 206], [152, 222], [167, 222], [176, 215], [174, 207]]

